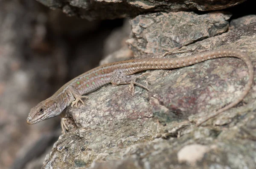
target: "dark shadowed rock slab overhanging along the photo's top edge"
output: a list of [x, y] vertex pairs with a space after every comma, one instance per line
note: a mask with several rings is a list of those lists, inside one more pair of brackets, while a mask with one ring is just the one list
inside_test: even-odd
[[133, 17], [149, 11], [214, 11], [245, 0], [38, 0], [50, 8], [60, 8], [69, 16], [87, 20]]

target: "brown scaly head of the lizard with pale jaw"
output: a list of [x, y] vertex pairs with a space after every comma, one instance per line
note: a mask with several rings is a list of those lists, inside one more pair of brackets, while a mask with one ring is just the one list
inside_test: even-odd
[[27, 118], [27, 124], [36, 124], [40, 121], [44, 121], [48, 118], [55, 117], [61, 114], [62, 110], [56, 101], [52, 99], [46, 99], [38, 103], [29, 112]]

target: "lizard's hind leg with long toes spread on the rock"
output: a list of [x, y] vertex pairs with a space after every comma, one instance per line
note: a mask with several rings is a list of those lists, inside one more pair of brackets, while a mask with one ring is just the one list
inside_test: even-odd
[[122, 70], [115, 70], [111, 74], [110, 82], [114, 85], [129, 85], [129, 91], [131, 92], [132, 96], [134, 96], [134, 85], [140, 86], [144, 88], [145, 90], [149, 90], [148, 87], [145, 87], [144, 85], [141, 85], [140, 83], [137, 83], [136, 80], [140, 77], [144, 76], [145, 73], [143, 73], [140, 76], [137, 75], [126, 75]]

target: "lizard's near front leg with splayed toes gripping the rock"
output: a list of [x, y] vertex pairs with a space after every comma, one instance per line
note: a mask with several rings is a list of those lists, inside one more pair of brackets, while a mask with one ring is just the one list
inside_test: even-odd
[[68, 105], [70, 105], [71, 103], [71, 107], [74, 106], [74, 104], [76, 104], [77, 107], [77, 103], [79, 101], [81, 101], [82, 104], [84, 104], [84, 101], [82, 101], [82, 99], [88, 99], [87, 96], [82, 96], [80, 95], [80, 93], [78, 92], [78, 90], [76, 89], [76, 87], [70, 85], [67, 90], [67, 96], [69, 97], [69, 101], [68, 101]]

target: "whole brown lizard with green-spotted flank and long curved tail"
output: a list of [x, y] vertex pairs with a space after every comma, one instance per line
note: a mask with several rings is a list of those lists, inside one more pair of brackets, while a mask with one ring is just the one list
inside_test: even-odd
[[[253, 65], [249, 56], [237, 51], [237, 50], [216, 50], [208, 51], [203, 54], [195, 54], [193, 56], [182, 58], [145, 58], [145, 59], [132, 59], [121, 62], [114, 62], [105, 65], [101, 65], [97, 68], [89, 70], [80, 76], [70, 80], [63, 85], [56, 93], [54, 93], [48, 99], [41, 101], [38, 105], [30, 110], [27, 118], [28, 124], [35, 124], [48, 118], [60, 115], [61, 112], [71, 104], [71, 107], [76, 105], [79, 101], [84, 104], [82, 99], [87, 98], [82, 96], [99, 89], [100, 87], [112, 83], [114, 85], [130, 84], [130, 91], [134, 95], [134, 85], [148, 90], [147, 87], [140, 85], [136, 82], [136, 79], [140, 76], [134, 75], [134, 73], [141, 72], [143, 70], [154, 69], [173, 69], [181, 68], [195, 63], [203, 62], [205, 60], [220, 58], [220, 57], [236, 57], [245, 62], [248, 68], [249, 78], [244, 87], [243, 92], [233, 102], [227, 106], [215, 111], [211, 116], [206, 118], [200, 125], [212, 117], [220, 114], [221, 112], [235, 106], [249, 92], [253, 84]], [[65, 124], [64, 124], [65, 126]], [[61, 125], [62, 128], [63, 125]], [[65, 126], [66, 127], [66, 126]], [[67, 127], [66, 127], [67, 129]], [[64, 130], [64, 129], [63, 129]]]

